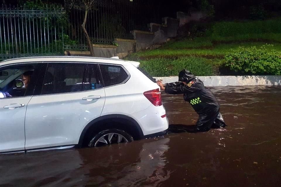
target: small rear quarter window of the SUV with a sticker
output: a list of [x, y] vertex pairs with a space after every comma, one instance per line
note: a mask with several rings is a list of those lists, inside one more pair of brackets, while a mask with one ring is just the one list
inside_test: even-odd
[[112, 86], [124, 82], [128, 74], [122, 66], [100, 64], [104, 86]]

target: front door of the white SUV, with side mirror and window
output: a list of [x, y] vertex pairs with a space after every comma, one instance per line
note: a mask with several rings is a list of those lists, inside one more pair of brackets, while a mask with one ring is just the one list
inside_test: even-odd
[[[25, 112], [32, 98], [39, 66], [38, 63], [26, 63], [0, 67], [0, 72], [4, 72], [0, 73], [1, 153], [24, 150]], [[29, 77], [28, 86], [24, 86], [21, 76], [27, 72], [32, 72], [32, 75]]]

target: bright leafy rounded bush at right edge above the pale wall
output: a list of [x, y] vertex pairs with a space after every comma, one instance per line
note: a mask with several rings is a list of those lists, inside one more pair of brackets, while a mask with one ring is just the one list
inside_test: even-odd
[[239, 47], [225, 56], [226, 66], [240, 73], [254, 75], [281, 75], [281, 52], [269, 46]]

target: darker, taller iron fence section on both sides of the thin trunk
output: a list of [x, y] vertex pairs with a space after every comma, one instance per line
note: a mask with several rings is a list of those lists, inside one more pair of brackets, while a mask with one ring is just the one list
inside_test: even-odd
[[[68, 36], [79, 45], [86, 45], [81, 24], [85, 6], [81, 1], [65, 0], [69, 15]], [[150, 22], [159, 22], [158, 10], [150, 0], [93, 0], [88, 12], [86, 30], [95, 44], [112, 44], [114, 38], [133, 38], [131, 31], [148, 30]]]

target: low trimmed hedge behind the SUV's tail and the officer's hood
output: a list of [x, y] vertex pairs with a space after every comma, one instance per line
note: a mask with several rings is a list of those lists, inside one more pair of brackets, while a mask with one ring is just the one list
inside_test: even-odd
[[196, 76], [214, 75], [212, 65], [204, 58], [181, 57], [178, 59], [153, 58], [140, 60], [140, 67], [154, 77], [177, 76], [183, 69], [187, 69]]

